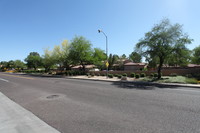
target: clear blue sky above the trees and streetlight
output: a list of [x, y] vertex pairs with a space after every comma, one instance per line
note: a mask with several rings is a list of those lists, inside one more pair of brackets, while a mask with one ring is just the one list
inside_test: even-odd
[[193, 49], [200, 45], [199, 5], [199, 0], [0, 0], [0, 61], [42, 55], [75, 35], [105, 50], [98, 29], [108, 36], [109, 53], [128, 56], [163, 18], [183, 24]]

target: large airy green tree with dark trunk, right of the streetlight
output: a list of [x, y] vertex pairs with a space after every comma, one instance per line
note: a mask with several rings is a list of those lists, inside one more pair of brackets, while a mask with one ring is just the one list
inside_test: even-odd
[[144, 57], [158, 64], [158, 79], [160, 79], [162, 66], [172, 53], [176, 53], [176, 46], [185, 46], [191, 41], [192, 39], [183, 33], [180, 24], [172, 25], [169, 19], [163, 19], [140, 39], [136, 48]]

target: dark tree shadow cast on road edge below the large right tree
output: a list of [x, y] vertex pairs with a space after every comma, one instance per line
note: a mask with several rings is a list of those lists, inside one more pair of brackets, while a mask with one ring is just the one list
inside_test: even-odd
[[152, 82], [113, 82], [113, 85], [123, 89], [140, 89], [140, 90], [154, 90], [155, 88], [176, 89], [180, 87], [178, 85], [158, 84]]

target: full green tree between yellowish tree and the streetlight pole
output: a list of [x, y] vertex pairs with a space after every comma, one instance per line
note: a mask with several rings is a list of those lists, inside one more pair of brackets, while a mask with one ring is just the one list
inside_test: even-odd
[[92, 63], [92, 44], [83, 36], [76, 36], [69, 47], [69, 58], [74, 65], [82, 65], [85, 71], [85, 65]]

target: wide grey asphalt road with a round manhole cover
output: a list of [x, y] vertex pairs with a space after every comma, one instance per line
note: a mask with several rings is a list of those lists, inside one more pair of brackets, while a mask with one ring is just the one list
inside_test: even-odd
[[0, 73], [0, 91], [62, 133], [200, 133], [200, 90]]

